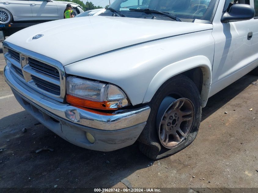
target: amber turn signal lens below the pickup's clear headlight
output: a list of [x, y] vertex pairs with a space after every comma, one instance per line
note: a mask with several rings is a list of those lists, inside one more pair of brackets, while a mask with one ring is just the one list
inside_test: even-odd
[[72, 95], [66, 95], [66, 101], [73, 105], [83, 106], [83, 107], [92, 108], [92, 109], [116, 110], [114, 108], [109, 108], [110, 104], [108, 104], [109, 103], [108, 101], [104, 101], [104, 102], [89, 101]]

